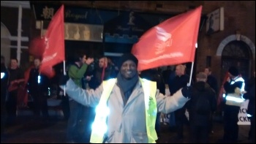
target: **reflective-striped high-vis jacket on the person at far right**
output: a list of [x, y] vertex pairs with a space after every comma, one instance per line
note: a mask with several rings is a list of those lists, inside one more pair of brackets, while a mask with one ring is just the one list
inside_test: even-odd
[[225, 99], [226, 105], [241, 106], [241, 103], [244, 102], [243, 94], [241, 91], [244, 91], [244, 79], [242, 77], [236, 77], [235, 80], [231, 80], [230, 83], [225, 83], [224, 88], [226, 90]]

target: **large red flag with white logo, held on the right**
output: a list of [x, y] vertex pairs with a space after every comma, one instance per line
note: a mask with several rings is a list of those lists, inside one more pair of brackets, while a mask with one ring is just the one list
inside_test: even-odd
[[197, 7], [146, 31], [132, 47], [138, 70], [194, 61], [201, 11]]

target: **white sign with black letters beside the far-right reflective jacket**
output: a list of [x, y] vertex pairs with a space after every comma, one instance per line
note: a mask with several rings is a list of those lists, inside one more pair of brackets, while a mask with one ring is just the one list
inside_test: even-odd
[[244, 101], [240, 107], [240, 111], [238, 113], [238, 125], [250, 125], [250, 121], [247, 117], [247, 106], [248, 106], [248, 102], [249, 100], [247, 99], [246, 101]]

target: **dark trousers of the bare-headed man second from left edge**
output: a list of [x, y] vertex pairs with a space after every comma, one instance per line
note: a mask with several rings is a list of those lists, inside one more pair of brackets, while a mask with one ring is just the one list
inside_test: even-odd
[[10, 91], [9, 96], [7, 97], [7, 123], [14, 124], [16, 119], [16, 111], [17, 111], [17, 94], [18, 91]]

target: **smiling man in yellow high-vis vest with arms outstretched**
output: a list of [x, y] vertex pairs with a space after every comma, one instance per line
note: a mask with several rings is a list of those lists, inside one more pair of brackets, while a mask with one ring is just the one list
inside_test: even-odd
[[95, 90], [83, 90], [67, 76], [61, 77], [60, 87], [72, 99], [96, 107], [91, 143], [156, 143], [157, 111], [170, 113], [189, 101], [190, 87], [164, 96], [156, 82], [139, 77], [137, 67], [138, 59], [124, 54], [117, 77], [103, 81]]

